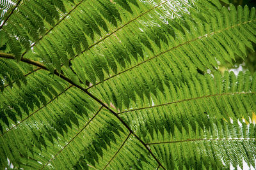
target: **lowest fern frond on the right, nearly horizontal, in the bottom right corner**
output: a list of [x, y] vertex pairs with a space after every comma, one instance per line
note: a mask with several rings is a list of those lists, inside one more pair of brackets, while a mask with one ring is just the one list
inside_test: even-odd
[[[241, 126], [237, 123], [230, 125], [227, 122], [212, 124], [209, 132], [201, 130], [204, 131], [202, 138], [199, 137], [200, 130], [196, 130], [194, 133], [193, 131], [180, 132], [175, 129], [177, 132], [174, 135], [169, 136], [164, 133], [163, 139], [169, 138], [168, 141], [149, 142], [148, 146], [165, 162], [164, 165], [167, 169], [172, 167], [186, 169], [230, 168], [230, 165], [243, 167], [243, 160], [246, 164], [255, 166], [255, 153], [249, 151], [250, 148], [255, 148], [255, 134], [246, 136], [251, 128], [255, 129], [255, 125], [250, 125], [247, 128], [244, 123]], [[220, 129], [225, 129], [225, 131], [219, 133]], [[241, 135], [236, 136], [232, 131]], [[193, 138], [194, 135], [195, 138]], [[180, 140], [180, 138], [182, 139]], [[164, 152], [161, 151], [163, 149]], [[164, 159], [166, 158], [164, 153], [170, 154], [170, 159]]]

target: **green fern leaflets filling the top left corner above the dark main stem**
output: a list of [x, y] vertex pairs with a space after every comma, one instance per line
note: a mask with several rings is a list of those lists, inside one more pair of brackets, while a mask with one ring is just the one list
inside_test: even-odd
[[[16, 1], [13, 3], [16, 3], [15, 6], [10, 10], [8, 17], [3, 18], [3, 24], [1, 23], [1, 31], [4, 31], [1, 39], [5, 41], [9, 39], [10, 52], [15, 54], [17, 60], [20, 60], [24, 49], [19, 46], [29, 50], [31, 41], [38, 41], [44, 34], [46, 25], [44, 20], [48, 24], [54, 25], [55, 20], [60, 18], [60, 12], [65, 13], [65, 6], [62, 1], [59, 3], [54, 3], [54, 1]], [[6, 7], [8, 4], [5, 2], [3, 6]], [[17, 8], [18, 6], [19, 8]], [[15, 29], [13, 29], [14, 27]]]

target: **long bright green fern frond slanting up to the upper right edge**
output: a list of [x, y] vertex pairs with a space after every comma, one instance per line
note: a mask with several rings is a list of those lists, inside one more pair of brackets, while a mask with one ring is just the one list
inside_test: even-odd
[[[246, 9], [244, 10], [244, 12], [245, 11]], [[224, 13], [226, 12], [227, 10], [223, 11], [223, 13], [218, 13], [218, 15], [224, 15]], [[226, 19], [229, 20], [228, 18]], [[137, 69], [137, 67], [143, 67], [142, 65], [145, 65], [147, 62], [156, 62], [156, 64], [162, 64], [164, 62], [164, 64], [167, 64], [167, 67], [171, 67], [171, 69], [168, 69], [170, 70], [169, 73], [168, 71], [166, 71], [169, 77], [170, 76], [173, 77], [172, 74], [175, 74], [175, 75], [184, 74], [185, 76], [188, 76], [191, 73], [196, 74], [197, 67], [199, 67], [202, 70], [205, 70], [207, 68], [211, 69], [212, 66], [218, 67], [218, 62], [223, 63], [225, 62], [225, 60], [227, 60], [228, 62], [232, 62], [232, 59], [234, 59], [234, 55], [240, 55], [241, 57], [243, 57], [244, 50], [243, 52], [241, 50], [242, 48], [245, 49], [244, 45], [252, 46], [251, 43], [249, 43], [248, 39], [246, 40], [245, 37], [248, 38], [250, 36], [250, 39], [252, 38], [252, 41], [254, 41], [253, 39], [255, 39], [255, 35], [252, 31], [252, 27], [253, 27], [252, 25], [253, 25], [253, 22], [255, 22], [255, 20], [248, 20], [247, 22], [244, 22], [243, 20], [242, 23], [232, 25], [230, 27], [223, 27], [221, 25], [222, 22], [220, 22], [221, 24], [216, 25], [216, 22], [217, 21], [214, 21], [212, 18], [212, 21], [211, 21], [212, 26], [210, 26], [211, 24], [209, 25], [205, 23], [205, 28], [204, 28], [204, 25], [202, 25], [202, 23], [198, 22], [199, 25], [196, 25], [195, 23], [191, 22], [191, 24], [193, 25], [189, 25], [191, 27], [191, 32], [189, 32], [189, 34], [188, 33], [182, 34], [182, 32], [178, 30], [176, 31], [177, 39], [183, 39], [183, 40], [181, 41], [179, 40], [180, 42], [176, 42], [175, 39], [173, 39], [172, 37], [169, 37], [170, 40], [168, 41], [172, 41], [174, 45], [171, 48], [170, 48], [170, 45], [166, 46], [165, 49], [161, 49], [159, 53], [152, 53], [150, 52], [150, 50], [153, 50], [153, 48], [149, 48], [150, 50], [147, 50], [147, 47], [152, 46], [152, 44], [156, 44], [157, 46], [160, 47], [160, 44], [159, 44], [160, 39], [166, 38], [164, 34], [162, 34], [164, 35], [164, 37], [161, 38], [161, 33], [159, 32], [157, 33], [159, 34], [159, 36], [157, 37], [156, 34], [153, 34], [152, 29], [147, 29], [147, 31], [143, 31], [143, 32], [138, 31], [140, 32], [140, 34], [143, 34], [143, 38], [136, 39], [136, 36], [133, 36], [133, 35], [134, 34], [136, 35], [139, 33], [135, 32], [136, 30], [132, 29], [131, 27], [131, 29], [127, 29], [127, 31], [125, 31], [127, 32], [126, 34], [122, 34], [122, 33], [119, 34], [118, 32], [116, 32], [115, 33], [116, 38], [109, 37], [104, 42], [102, 42], [101, 48], [99, 47], [91, 48], [90, 51], [92, 55], [90, 53], [86, 53], [84, 54], [84, 57], [79, 57], [75, 59], [74, 62], [72, 63], [76, 64], [76, 62], [81, 62], [80, 66], [81, 65], [88, 66], [91, 63], [93, 65], [93, 63], [95, 63], [95, 61], [98, 60], [97, 56], [108, 55], [108, 57], [106, 57], [105, 59], [103, 58], [102, 59], [104, 60], [105, 63], [108, 63], [109, 68], [105, 69], [106, 73], [110, 74], [109, 70], [113, 71], [113, 73], [111, 73], [112, 74], [111, 76], [108, 76], [107, 74], [104, 75], [105, 67], [102, 67], [102, 70], [98, 69], [98, 67], [92, 67], [92, 69], [95, 72], [84, 71], [84, 74], [87, 74], [88, 76], [87, 78], [85, 77], [86, 80], [92, 81], [90, 78], [94, 79], [92, 81], [93, 84], [96, 83], [95, 81], [95, 78], [97, 79], [96, 73], [98, 75], [99, 74], [104, 75], [104, 77], [107, 76], [106, 80], [109, 80], [109, 78], [120, 76], [120, 74], [123, 74], [127, 71], [130, 71], [130, 70], [134, 71]], [[131, 25], [132, 24], [130, 24], [129, 26]], [[138, 23], [136, 23], [136, 25], [134, 24], [133, 27], [145, 27], [145, 24], [138, 25]], [[148, 26], [146, 25], [146, 27]], [[244, 28], [246, 27], [249, 27], [251, 31], [249, 30], [248, 30], [249, 32], [243, 31]], [[161, 29], [161, 27], [159, 27], [159, 29]], [[198, 34], [197, 30], [200, 31], [201, 33]], [[151, 33], [148, 31], [150, 31]], [[193, 35], [194, 31], [196, 31], [195, 35]], [[242, 34], [241, 32], [245, 33], [247, 36], [241, 35]], [[145, 44], [145, 47], [142, 48], [143, 50], [146, 50], [147, 53], [144, 53], [144, 52], [141, 53], [140, 51], [137, 50], [137, 52], [140, 52], [140, 56], [148, 56], [146, 59], [137, 59], [136, 56], [138, 54], [134, 54], [134, 52], [132, 52], [131, 44], [126, 41], [120, 42], [120, 39], [124, 39], [123, 37], [126, 36], [127, 34], [129, 36], [131, 35], [130, 36], [131, 38], [129, 39], [134, 39], [134, 41], [132, 41], [132, 44], [134, 45], [140, 43], [140, 39], [143, 39], [143, 41], [146, 41], [146, 37], [148, 34], [149, 36], [149, 39], [147, 39], [148, 45], [146, 45], [146, 43], [143, 43]], [[244, 45], [242, 45], [240, 41], [242, 36], [243, 36]], [[237, 37], [239, 39], [237, 39]], [[152, 39], [151, 43], [150, 43], [150, 39]], [[165, 40], [163, 40], [163, 42], [164, 41]], [[237, 42], [239, 41], [239, 45], [236, 45], [236, 43], [234, 43], [236, 41]], [[113, 42], [116, 42], [115, 47], [113, 47]], [[125, 45], [124, 43], [127, 43], [127, 45]], [[200, 46], [205, 46], [205, 48], [199, 48]], [[118, 53], [116, 52], [117, 48], [120, 49]], [[128, 57], [125, 57], [127, 54], [130, 54], [130, 55]], [[112, 55], [111, 58], [109, 57], [109, 55]], [[181, 59], [180, 59], [180, 55], [182, 56]], [[168, 57], [168, 56], [172, 56], [172, 57]], [[83, 60], [84, 60], [83, 58], [86, 60], [86, 63], [83, 63]], [[89, 63], [88, 63], [88, 60], [89, 60]], [[161, 60], [163, 60], [163, 62], [161, 62]], [[144, 67], [148, 69], [148, 65], [149, 64], [147, 64], [147, 66], [144, 66]], [[124, 67], [124, 69], [120, 69], [120, 71], [117, 71], [116, 69], [119, 66], [121, 66], [120, 68]], [[155, 69], [154, 66], [152, 67], [152, 69]], [[76, 71], [76, 67], [74, 67], [74, 71]], [[145, 70], [145, 73], [147, 72], [148, 71]], [[81, 77], [81, 80], [84, 80], [84, 74], [83, 74], [83, 78]], [[177, 80], [175, 81], [178, 81], [181, 77], [182, 76], [178, 76]], [[99, 81], [102, 81], [102, 76], [100, 76]]]

